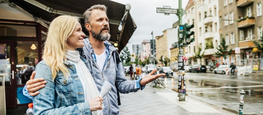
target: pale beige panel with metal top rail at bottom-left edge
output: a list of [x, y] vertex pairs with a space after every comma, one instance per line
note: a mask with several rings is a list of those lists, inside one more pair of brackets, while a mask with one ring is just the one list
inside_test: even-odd
[[5, 75], [0, 74], [0, 115], [6, 115]]

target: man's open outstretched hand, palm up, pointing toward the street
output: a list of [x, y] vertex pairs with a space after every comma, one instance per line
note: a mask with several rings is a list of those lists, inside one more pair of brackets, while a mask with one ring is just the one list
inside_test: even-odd
[[143, 79], [141, 80], [141, 85], [145, 86], [146, 84], [154, 81], [155, 79], [157, 79], [161, 76], [165, 76], [165, 73], [161, 73], [161, 74], [157, 74], [157, 75], [153, 76], [153, 73], [155, 73], [156, 71], [157, 71], [157, 69], [155, 68], [151, 73], [144, 76]]

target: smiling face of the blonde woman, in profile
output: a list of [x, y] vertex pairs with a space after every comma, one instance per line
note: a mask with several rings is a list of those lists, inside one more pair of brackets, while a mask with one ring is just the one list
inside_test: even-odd
[[82, 32], [81, 25], [77, 23], [73, 33], [67, 39], [68, 50], [76, 50], [76, 48], [84, 47], [83, 38], [86, 35]]

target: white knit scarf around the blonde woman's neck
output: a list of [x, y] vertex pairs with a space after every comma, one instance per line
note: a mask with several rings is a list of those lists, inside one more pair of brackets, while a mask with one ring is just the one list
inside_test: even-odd
[[[82, 81], [85, 100], [90, 101], [95, 96], [99, 96], [99, 91], [95, 84], [95, 81], [91, 76], [91, 73], [89, 72], [89, 69], [86, 67], [85, 63], [80, 59], [79, 52], [68, 50], [66, 57], [68, 60], [77, 63], [77, 65], [75, 66], [78, 66], [79, 70], [81, 71], [80, 73], [77, 74], [82, 76], [79, 77], [79, 79]], [[104, 108], [103, 104], [102, 107]], [[93, 111], [91, 113], [92, 115], [103, 115], [102, 110]]]

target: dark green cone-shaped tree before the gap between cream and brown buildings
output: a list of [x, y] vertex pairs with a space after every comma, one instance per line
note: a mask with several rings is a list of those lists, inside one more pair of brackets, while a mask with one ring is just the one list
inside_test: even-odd
[[217, 47], [217, 52], [215, 52], [215, 54], [218, 56], [218, 57], [224, 57], [224, 59], [226, 60], [226, 58], [232, 54], [233, 50], [230, 49], [228, 50], [227, 49], [228, 46], [226, 45], [226, 41], [225, 41], [225, 38], [222, 37], [221, 39], [221, 42], [220, 42], [220, 45]]

